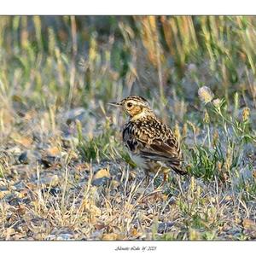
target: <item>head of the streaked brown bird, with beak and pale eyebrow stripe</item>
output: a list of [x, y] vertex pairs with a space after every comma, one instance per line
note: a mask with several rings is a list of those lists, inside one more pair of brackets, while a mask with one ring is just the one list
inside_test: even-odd
[[141, 96], [128, 96], [120, 102], [110, 102], [109, 104], [122, 108], [131, 118], [152, 113], [148, 101]]

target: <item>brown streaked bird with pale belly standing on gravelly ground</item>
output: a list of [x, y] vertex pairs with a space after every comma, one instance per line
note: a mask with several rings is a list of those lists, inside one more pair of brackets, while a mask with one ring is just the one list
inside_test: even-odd
[[171, 170], [180, 175], [187, 174], [182, 167], [183, 155], [177, 137], [154, 114], [145, 98], [127, 96], [120, 102], [109, 104], [122, 108], [129, 117], [122, 131], [123, 143], [131, 160], [145, 172], [148, 183], [152, 172], [164, 174], [162, 184], [166, 183]]

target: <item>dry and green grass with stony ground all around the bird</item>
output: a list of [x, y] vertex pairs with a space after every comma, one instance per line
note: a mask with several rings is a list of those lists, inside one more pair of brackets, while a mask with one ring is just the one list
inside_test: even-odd
[[[255, 239], [255, 26], [0, 17], [0, 239]], [[107, 105], [131, 94], [172, 126], [189, 177], [145, 185]]]

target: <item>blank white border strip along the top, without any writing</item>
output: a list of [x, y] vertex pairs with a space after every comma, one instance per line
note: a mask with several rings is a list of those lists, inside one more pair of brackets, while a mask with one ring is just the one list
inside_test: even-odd
[[255, 15], [255, 0], [8, 0], [0, 15]]

